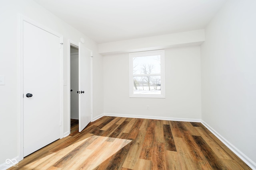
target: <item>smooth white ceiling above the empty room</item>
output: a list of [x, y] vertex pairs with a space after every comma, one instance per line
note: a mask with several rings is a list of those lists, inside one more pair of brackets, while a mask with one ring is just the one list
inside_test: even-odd
[[226, 0], [34, 0], [97, 43], [204, 28]]

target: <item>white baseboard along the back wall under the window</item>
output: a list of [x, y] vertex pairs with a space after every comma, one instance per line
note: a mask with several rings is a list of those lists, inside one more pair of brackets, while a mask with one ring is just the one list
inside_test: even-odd
[[114, 113], [104, 113], [104, 115], [105, 116], [113, 116], [113, 117], [131, 117], [131, 118], [141, 118], [141, 119], [201, 122], [201, 119], [184, 119], [184, 118], [174, 118], [174, 117], [157, 117], [157, 116], [144, 116], [144, 115], [125, 115], [125, 114], [114, 114]]

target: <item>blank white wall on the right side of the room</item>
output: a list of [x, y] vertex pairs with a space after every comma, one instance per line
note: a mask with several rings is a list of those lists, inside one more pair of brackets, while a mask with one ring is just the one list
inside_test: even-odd
[[206, 27], [202, 120], [256, 169], [256, 1], [230, 0]]

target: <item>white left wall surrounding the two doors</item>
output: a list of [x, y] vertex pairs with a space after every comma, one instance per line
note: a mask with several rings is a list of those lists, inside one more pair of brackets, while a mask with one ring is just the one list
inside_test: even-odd
[[[6, 159], [18, 156], [18, 14], [22, 14], [45, 27], [64, 36], [64, 79], [68, 77], [68, 39], [79, 42], [84, 37], [86, 46], [94, 54], [93, 58], [93, 113], [94, 117], [103, 113], [103, 58], [98, 54], [97, 44], [66, 24], [32, 0], [8, 0], [0, 5], [0, 75], [5, 75], [6, 84], [0, 86], [0, 168]], [[40, 39], [38, 40], [40, 41]], [[36, 42], [35, 42], [36, 43]], [[68, 131], [68, 99], [70, 92], [64, 86], [64, 133]]]

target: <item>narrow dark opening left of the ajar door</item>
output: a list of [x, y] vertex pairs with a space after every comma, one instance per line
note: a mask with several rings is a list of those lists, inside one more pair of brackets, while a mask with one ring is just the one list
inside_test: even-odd
[[78, 131], [79, 124], [78, 66], [78, 47], [70, 45], [70, 133]]

